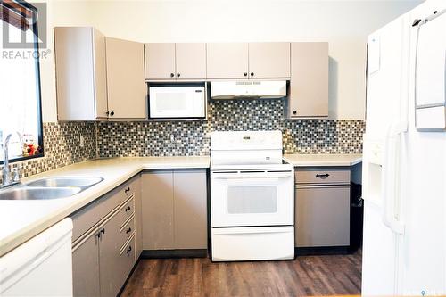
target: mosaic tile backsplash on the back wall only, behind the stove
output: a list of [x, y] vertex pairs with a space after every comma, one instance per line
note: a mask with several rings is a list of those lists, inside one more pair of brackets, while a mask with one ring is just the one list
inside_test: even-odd
[[284, 134], [285, 153], [362, 153], [363, 120], [285, 120], [284, 100], [211, 100], [208, 120], [101, 122], [98, 154], [208, 155], [214, 130], [273, 130]]

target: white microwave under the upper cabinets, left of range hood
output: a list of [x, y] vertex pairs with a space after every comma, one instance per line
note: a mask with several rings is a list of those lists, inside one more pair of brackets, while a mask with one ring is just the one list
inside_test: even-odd
[[149, 119], [200, 119], [205, 116], [204, 84], [149, 86]]

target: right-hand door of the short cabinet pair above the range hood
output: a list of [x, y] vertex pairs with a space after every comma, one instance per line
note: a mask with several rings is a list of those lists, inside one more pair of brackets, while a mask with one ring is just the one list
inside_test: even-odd
[[249, 44], [250, 78], [289, 78], [290, 67], [289, 42]]

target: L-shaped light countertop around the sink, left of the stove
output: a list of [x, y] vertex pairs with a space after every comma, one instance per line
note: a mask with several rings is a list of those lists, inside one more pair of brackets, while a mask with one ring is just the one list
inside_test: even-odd
[[206, 169], [210, 161], [209, 156], [112, 158], [80, 162], [23, 178], [23, 184], [44, 177], [103, 177], [103, 181], [67, 198], [0, 200], [0, 257], [143, 170]]

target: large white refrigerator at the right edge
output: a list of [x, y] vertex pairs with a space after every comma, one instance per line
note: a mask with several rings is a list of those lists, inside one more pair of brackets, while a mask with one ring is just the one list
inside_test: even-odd
[[[426, 1], [368, 37], [363, 296], [446, 293], [446, 132], [438, 119], [417, 129], [415, 98], [417, 81], [444, 96], [445, 8]], [[416, 62], [420, 47], [437, 54]]]

